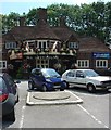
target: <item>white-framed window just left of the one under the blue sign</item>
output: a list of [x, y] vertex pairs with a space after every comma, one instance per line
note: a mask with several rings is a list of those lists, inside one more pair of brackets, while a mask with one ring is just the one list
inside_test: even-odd
[[89, 60], [77, 60], [78, 68], [89, 68]]

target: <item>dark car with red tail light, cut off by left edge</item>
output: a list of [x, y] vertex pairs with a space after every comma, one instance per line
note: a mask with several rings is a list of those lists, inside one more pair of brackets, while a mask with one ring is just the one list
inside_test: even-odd
[[7, 117], [14, 121], [14, 106], [18, 102], [18, 88], [20, 81], [14, 81], [7, 73], [0, 73], [0, 106], [2, 106], [2, 113], [0, 116]]

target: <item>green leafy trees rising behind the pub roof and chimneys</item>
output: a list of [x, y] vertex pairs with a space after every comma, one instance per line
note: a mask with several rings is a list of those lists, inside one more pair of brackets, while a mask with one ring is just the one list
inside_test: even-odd
[[[38, 9], [32, 9], [26, 17], [27, 25], [36, 25]], [[47, 6], [48, 22], [50, 26], [59, 26], [60, 17], [64, 16], [66, 25], [79, 35], [94, 36], [102, 40], [108, 39], [111, 28], [111, 2], [92, 2], [91, 4], [67, 5], [51, 4]], [[20, 14], [11, 12], [11, 14], [2, 16], [2, 29], [10, 30], [18, 24]], [[0, 16], [1, 18], [1, 16]], [[0, 23], [1, 26], [1, 23]]]

